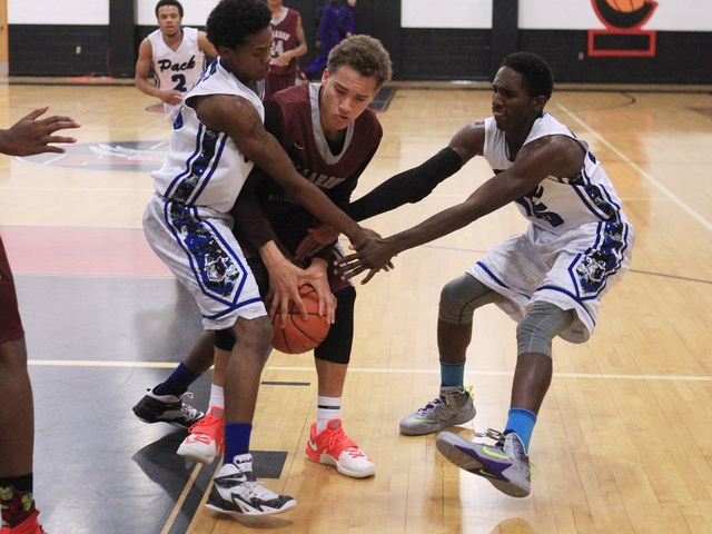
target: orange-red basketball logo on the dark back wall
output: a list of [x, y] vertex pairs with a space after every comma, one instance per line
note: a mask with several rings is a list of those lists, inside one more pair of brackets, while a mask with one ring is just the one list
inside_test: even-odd
[[589, 30], [589, 56], [655, 56], [655, 31], [641, 29], [657, 2], [591, 0], [605, 30]]

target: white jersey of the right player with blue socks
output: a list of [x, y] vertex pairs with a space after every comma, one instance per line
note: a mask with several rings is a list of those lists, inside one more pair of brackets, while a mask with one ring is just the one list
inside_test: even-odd
[[[589, 145], [548, 113], [536, 119], [524, 145], [546, 136], [566, 136], [580, 142], [586, 150], [584, 165], [576, 176], [546, 177], [534, 190], [518, 198], [516, 204], [522, 215], [533, 225], [557, 235], [586, 222], [624, 222], [621, 200], [605, 171], [589, 151]], [[514, 165], [508, 157], [506, 136], [497, 129], [494, 117], [485, 119], [483, 156], [495, 174]]]

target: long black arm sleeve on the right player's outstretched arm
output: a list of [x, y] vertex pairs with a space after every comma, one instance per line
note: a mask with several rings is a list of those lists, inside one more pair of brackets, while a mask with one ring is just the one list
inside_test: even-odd
[[435, 186], [453, 176], [462, 166], [459, 155], [449, 147], [444, 148], [423, 165], [388, 178], [344, 211], [354, 220], [364, 220], [406, 202], [415, 204], [433, 192]]

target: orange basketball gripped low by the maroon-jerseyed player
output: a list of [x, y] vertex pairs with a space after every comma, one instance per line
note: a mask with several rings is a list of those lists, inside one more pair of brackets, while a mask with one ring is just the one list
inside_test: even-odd
[[279, 310], [275, 314], [271, 322], [275, 328], [275, 336], [271, 346], [286, 354], [301, 354], [316, 348], [329, 333], [329, 324], [319, 317], [319, 297], [316, 290], [304, 285], [299, 288], [299, 296], [307, 308], [309, 320], [304, 320], [299, 314], [295, 303], [289, 308], [289, 317], [287, 317], [287, 326], [279, 327], [281, 315]]

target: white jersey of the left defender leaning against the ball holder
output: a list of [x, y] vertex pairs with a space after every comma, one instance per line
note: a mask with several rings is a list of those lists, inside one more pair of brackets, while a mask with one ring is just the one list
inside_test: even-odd
[[[235, 78], [218, 58], [188, 91], [184, 101], [196, 96], [236, 95], [249, 100], [264, 121], [261, 81], [258, 82], [258, 92], [255, 93]], [[254, 165], [227, 134], [206, 128], [195, 110], [184, 103], [174, 122], [164, 166], [151, 176], [156, 191], [166, 200], [227, 214]]]

